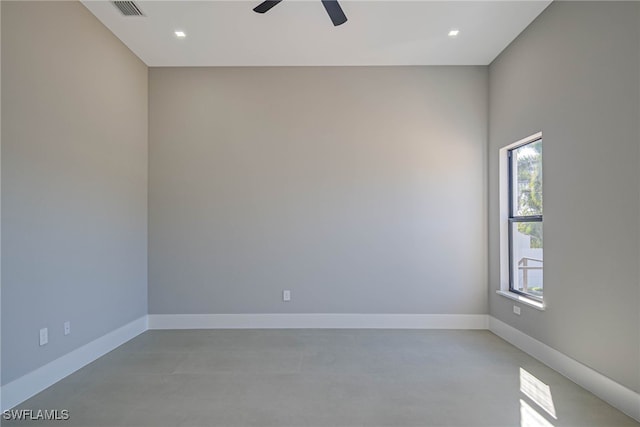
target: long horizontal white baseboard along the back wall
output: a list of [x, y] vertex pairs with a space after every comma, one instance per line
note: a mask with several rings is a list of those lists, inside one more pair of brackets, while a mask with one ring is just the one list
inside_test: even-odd
[[486, 314], [150, 314], [149, 329], [487, 329]]

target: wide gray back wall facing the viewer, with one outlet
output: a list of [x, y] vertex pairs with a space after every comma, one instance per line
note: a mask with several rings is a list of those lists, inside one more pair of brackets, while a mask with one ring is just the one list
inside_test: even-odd
[[149, 87], [150, 313], [486, 313], [487, 67]]

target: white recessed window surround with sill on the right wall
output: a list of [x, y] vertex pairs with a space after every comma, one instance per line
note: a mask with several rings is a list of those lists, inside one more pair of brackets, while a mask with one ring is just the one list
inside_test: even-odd
[[529, 298], [526, 295], [511, 292], [509, 288], [509, 270], [511, 268], [509, 260], [509, 151], [539, 139], [542, 139], [542, 132], [537, 132], [500, 149], [500, 289], [497, 293], [544, 311], [546, 300], [539, 301]]

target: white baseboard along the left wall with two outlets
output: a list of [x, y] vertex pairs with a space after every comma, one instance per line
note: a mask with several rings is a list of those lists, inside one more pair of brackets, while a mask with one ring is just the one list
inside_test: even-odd
[[2, 387], [2, 410], [11, 409], [40, 393], [45, 388], [140, 335], [147, 328], [147, 316], [142, 316], [4, 385]]

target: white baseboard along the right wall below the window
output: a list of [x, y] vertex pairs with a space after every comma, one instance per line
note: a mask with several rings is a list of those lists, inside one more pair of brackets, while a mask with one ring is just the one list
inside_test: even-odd
[[489, 316], [489, 330], [611, 406], [640, 421], [640, 394], [493, 316]]

